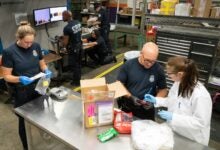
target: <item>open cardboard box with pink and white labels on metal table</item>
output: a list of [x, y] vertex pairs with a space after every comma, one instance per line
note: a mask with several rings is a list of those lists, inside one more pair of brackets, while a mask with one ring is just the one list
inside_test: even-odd
[[114, 99], [127, 95], [119, 81], [106, 84], [105, 78], [81, 80], [84, 126], [91, 128], [113, 123]]

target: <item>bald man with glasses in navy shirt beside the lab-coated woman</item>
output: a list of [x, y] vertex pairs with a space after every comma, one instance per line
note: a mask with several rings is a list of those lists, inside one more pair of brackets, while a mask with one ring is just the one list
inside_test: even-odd
[[166, 76], [157, 62], [158, 46], [153, 42], [146, 43], [138, 58], [130, 59], [121, 67], [117, 80], [127, 88], [129, 94], [118, 100], [118, 106], [125, 112], [132, 112], [141, 119], [154, 120], [154, 107], [140, 105], [145, 94], [158, 97], [167, 95]]

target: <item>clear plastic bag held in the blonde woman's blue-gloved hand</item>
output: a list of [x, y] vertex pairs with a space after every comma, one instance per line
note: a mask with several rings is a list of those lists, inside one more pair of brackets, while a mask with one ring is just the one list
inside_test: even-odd
[[41, 77], [40, 80], [37, 82], [35, 90], [41, 95], [46, 95], [49, 85], [50, 78]]

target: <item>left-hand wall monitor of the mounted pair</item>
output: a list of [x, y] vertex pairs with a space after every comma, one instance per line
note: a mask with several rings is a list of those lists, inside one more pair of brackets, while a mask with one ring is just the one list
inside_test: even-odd
[[50, 23], [50, 8], [34, 9], [33, 16], [35, 26]]

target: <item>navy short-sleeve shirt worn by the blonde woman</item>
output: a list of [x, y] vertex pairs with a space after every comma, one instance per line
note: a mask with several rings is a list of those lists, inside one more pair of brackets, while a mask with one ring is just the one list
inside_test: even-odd
[[38, 43], [33, 43], [28, 49], [14, 43], [3, 50], [2, 65], [12, 68], [12, 75], [32, 77], [40, 72], [39, 61], [42, 59]]

